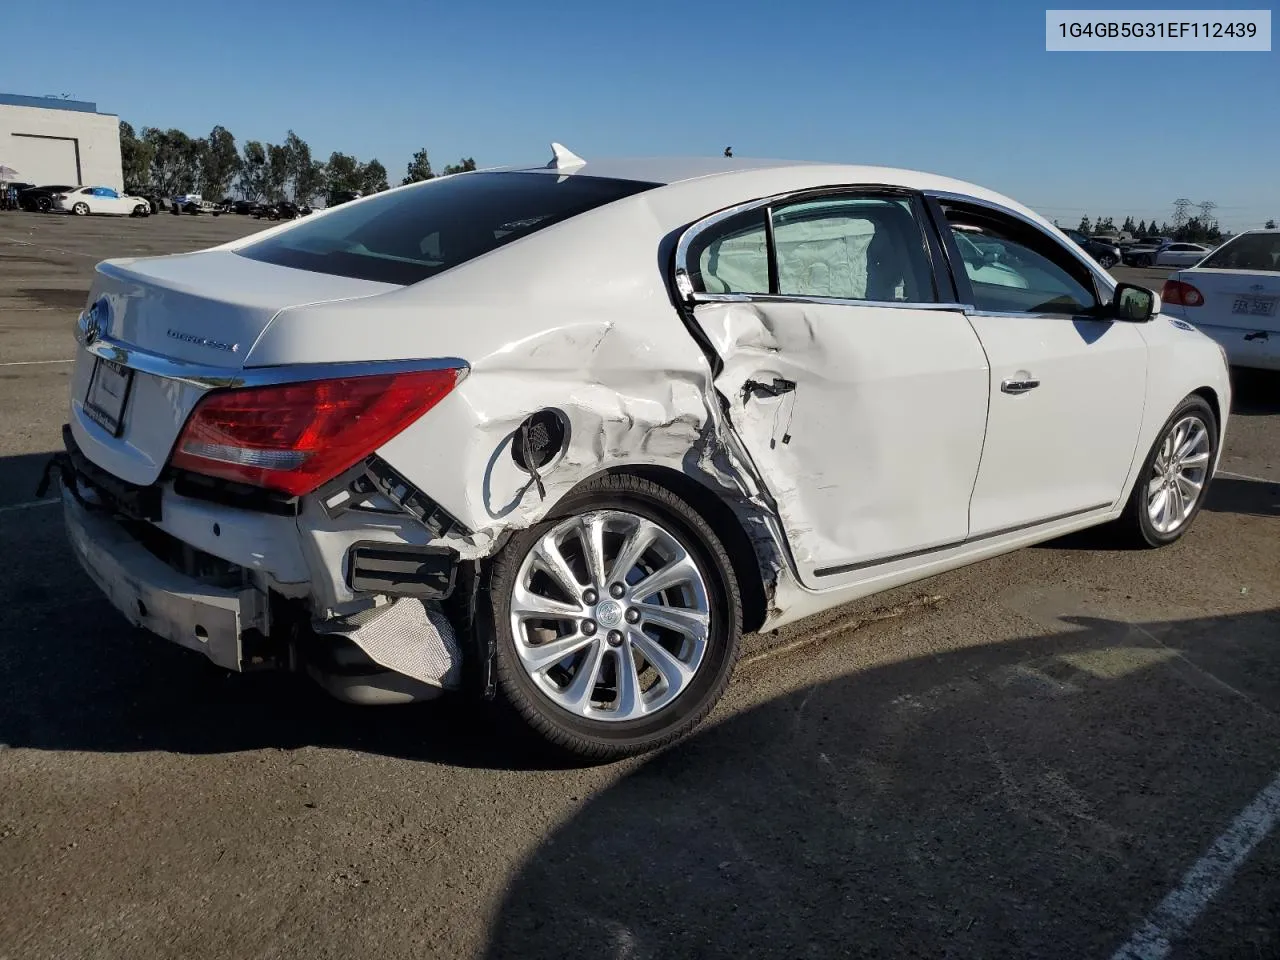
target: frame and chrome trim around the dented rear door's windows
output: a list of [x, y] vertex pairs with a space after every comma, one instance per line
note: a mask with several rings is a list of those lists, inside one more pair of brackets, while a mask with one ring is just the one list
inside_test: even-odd
[[[838, 193], [884, 193], [890, 196], [906, 197], [908, 200], [914, 200], [916, 206], [923, 204], [924, 196], [928, 191], [916, 189], [915, 187], [905, 187], [899, 183], [828, 183], [817, 187], [803, 187], [800, 189], [786, 191], [785, 193], [774, 193], [773, 196], [762, 197], [756, 200], [748, 200], [742, 204], [735, 204], [733, 206], [724, 207], [714, 214], [709, 214], [700, 220], [695, 220], [689, 227], [684, 229], [680, 234], [680, 239], [676, 242], [676, 255], [675, 255], [675, 270], [673, 270], [673, 285], [676, 292], [681, 296], [686, 303], [746, 303], [751, 301], [760, 301], [767, 303], [824, 303], [831, 306], [874, 306], [874, 307], [896, 307], [899, 310], [914, 308], [914, 310], [957, 310], [960, 305], [957, 303], [902, 303], [895, 300], [845, 300], [841, 297], [803, 297], [799, 294], [785, 294], [785, 293], [704, 293], [701, 291], [694, 289], [692, 278], [689, 275], [689, 248], [692, 242], [698, 239], [703, 233], [714, 229], [718, 224], [730, 220], [739, 214], [750, 212], [751, 210], [764, 209], [768, 211], [769, 207], [777, 204], [792, 204], [803, 202], [805, 198], [820, 198], [824, 196], [832, 196]], [[929, 273], [934, 273], [933, 253], [928, 243], [928, 229], [927, 225], [920, 221], [919, 214], [927, 214], [928, 211], [913, 210], [911, 219], [916, 220], [916, 225], [920, 230], [920, 241], [924, 244], [924, 255], [929, 261]], [[768, 247], [768, 257], [771, 265], [769, 282], [772, 283], [774, 276], [772, 271], [776, 270], [776, 253], [773, 251], [773, 216], [764, 218], [764, 232], [765, 243]], [[932, 276], [933, 285], [937, 288], [938, 279]], [[940, 296], [942, 291], [936, 289]]]

